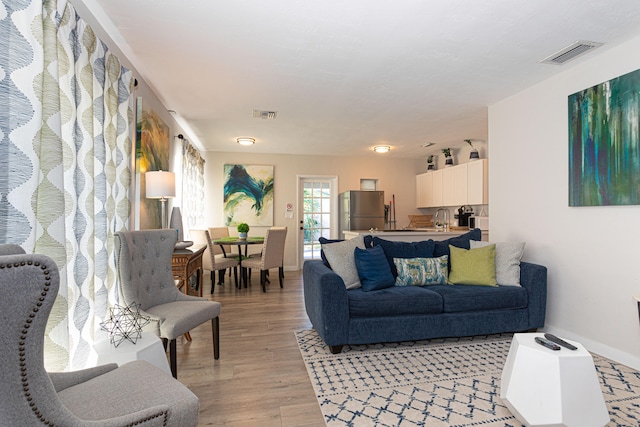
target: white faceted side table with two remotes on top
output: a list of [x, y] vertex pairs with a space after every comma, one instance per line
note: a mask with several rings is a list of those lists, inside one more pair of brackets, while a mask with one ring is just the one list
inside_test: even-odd
[[554, 351], [535, 342], [542, 333], [514, 334], [502, 371], [500, 398], [527, 426], [601, 427], [609, 421], [591, 354]]

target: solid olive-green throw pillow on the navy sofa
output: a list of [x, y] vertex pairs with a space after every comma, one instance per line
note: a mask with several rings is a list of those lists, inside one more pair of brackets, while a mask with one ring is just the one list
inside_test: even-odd
[[496, 245], [478, 249], [461, 249], [449, 245], [452, 285], [498, 286], [496, 280]]

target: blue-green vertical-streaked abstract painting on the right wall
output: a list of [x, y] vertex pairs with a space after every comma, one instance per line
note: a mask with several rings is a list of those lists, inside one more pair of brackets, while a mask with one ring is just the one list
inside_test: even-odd
[[569, 206], [640, 204], [640, 70], [569, 96]]

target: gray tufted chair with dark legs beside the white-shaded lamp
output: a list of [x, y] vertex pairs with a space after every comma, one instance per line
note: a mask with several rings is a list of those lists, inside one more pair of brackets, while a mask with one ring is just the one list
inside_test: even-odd
[[140, 230], [115, 234], [118, 285], [127, 305], [136, 303], [151, 322], [149, 330], [169, 344], [169, 365], [177, 378], [176, 339], [211, 320], [213, 355], [220, 357], [219, 302], [185, 295], [178, 290], [171, 271], [176, 231]]

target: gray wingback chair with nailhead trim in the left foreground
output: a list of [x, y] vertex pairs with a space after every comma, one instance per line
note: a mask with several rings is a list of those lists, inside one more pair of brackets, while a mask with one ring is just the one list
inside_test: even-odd
[[148, 362], [47, 373], [59, 286], [51, 258], [0, 245], [0, 425], [196, 426], [198, 397]]

